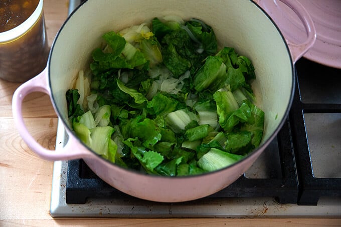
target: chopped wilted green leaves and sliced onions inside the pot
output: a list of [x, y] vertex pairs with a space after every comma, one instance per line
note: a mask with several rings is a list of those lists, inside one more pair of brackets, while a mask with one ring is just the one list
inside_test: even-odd
[[102, 38], [66, 93], [74, 132], [97, 154], [184, 176], [224, 168], [260, 144], [253, 65], [231, 47], [218, 50], [209, 25], [155, 18]]

